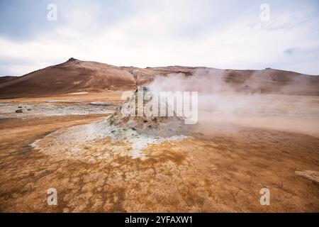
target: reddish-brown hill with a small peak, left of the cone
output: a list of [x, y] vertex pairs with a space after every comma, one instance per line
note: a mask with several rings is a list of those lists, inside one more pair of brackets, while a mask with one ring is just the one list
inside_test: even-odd
[[60, 65], [46, 67], [17, 79], [0, 81], [0, 96], [42, 96], [134, 87], [135, 79], [126, 70], [71, 58]]

